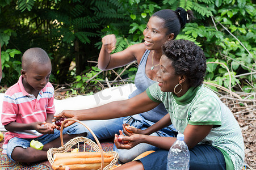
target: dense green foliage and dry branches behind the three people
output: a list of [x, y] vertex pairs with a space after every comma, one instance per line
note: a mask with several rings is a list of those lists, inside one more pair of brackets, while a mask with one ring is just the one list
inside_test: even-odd
[[255, 6], [250, 0], [0, 0], [1, 92], [17, 82], [22, 54], [32, 47], [49, 54], [50, 82], [62, 96], [92, 95], [133, 83], [136, 62], [110, 71], [98, 69], [102, 37], [114, 33], [113, 53], [119, 52], [144, 40], [142, 32], [154, 12], [183, 7], [196, 19], [177, 39], [194, 41], [204, 50], [204, 83], [219, 96], [227, 95], [223, 99], [236, 118], [244, 118], [240, 126], [250, 132], [249, 137], [243, 134], [246, 155], [252, 154], [246, 163], [256, 168]]

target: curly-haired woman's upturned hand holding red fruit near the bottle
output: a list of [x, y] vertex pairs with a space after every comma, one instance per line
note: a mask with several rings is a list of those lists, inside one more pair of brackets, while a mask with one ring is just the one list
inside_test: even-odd
[[[123, 134], [121, 130], [119, 130], [119, 133], [120, 133], [120, 135]], [[123, 141], [128, 141], [127, 144], [122, 144], [121, 142], [118, 141], [117, 138], [118, 138], [118, 135], [115, 134], [114, 142], [115, 142], [116, 147], [120, 148], [120, 149], [129, 150], [130, 148], [133, 148], [142, 142], [140, 134], [133, 134], [133, 135], [131, 135], [131, 137], [127, 137], [127, 136], [120, 137], [120, 139], [122, 139]]]

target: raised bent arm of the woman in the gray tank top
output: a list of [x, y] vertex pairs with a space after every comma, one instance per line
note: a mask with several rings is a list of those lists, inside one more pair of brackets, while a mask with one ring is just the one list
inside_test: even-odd
[[107, 35], [102, 39], [102, 48], [100, 49], [98, 58], [98, 67], [100, 70], [110, 70], [116, 67], [125, 66], [133, 61], [138, 61], [145, 52], [145, 45], [143, 43], [129, 46], [127, 49], [110, 54], [115, 49], [116, 37], [115, 35]]

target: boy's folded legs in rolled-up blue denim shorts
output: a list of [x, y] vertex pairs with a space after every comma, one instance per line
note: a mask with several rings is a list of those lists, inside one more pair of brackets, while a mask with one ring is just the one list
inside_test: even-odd
[[[86, 136], [85, 127], [81, 124], [75, 123], [67, 128], [64, 128], [63, 132], [64, 143], [70, 139], [78, 136]], [[36, 141], [43, 143], [43, 150], [36, 150], [30, 147], [32, 139], [11, 138], [7, 144], [7, 156], [17, 162], [32, 163], [47, 160], [47, 150], [51, 147], [60, 147], [60, 131], [54, 129], [54, 134], [45, 134], [38, 138]]]

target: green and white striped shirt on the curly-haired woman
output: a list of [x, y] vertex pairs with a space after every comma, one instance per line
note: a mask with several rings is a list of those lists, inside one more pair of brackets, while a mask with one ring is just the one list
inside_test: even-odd
[[214, 92], [202, 85], [191, 87], [186, 94], [177, 97], [172, 92], [162, 92], [158, 83], [154, 83], [146, 93], [151, 100], [165, 105], [174, 128], [181, 133], [187, 124], [213, 125], [200, 143], [219, 148], [224, 155], [226, 169], [242, 169], [245, 154], [240, 126]]

